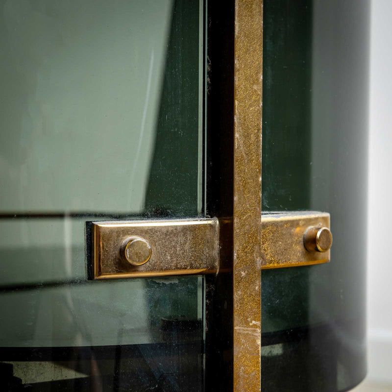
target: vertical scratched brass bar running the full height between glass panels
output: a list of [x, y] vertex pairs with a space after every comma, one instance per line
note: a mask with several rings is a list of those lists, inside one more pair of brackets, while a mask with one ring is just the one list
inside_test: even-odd
[[263, 1], [235, 3], [234, 391], [260, 391]]

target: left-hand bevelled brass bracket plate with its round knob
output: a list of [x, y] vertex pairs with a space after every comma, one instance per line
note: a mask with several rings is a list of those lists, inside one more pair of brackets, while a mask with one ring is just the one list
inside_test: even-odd
[[[136, 259], [134, 264], [132, 258]], [[92, 223], [93, 279], [207, 274], [218, 270], [216, 218]]]

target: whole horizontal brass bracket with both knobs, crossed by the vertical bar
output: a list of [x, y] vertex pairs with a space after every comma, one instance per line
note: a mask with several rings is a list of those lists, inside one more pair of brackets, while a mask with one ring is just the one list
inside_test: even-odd
[[[261, 228], [261, 269], [329, 262], [329, 214], [262, 214]], [[92, 278], [231, 271], [232, 233], [231, 219], [93, 222]]]

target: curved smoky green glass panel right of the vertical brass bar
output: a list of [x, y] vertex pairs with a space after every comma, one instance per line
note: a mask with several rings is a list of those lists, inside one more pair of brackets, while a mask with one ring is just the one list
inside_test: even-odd
[[367, 0], [265, 0], [263, 211], [331, 214], [326, 265], [262, 271], [262, 391], [366, 374]]

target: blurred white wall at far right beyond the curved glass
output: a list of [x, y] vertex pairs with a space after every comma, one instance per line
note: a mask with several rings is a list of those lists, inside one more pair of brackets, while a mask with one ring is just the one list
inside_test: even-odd
[[372, 0], [368, 379], [392, 384], [392, 0]]

